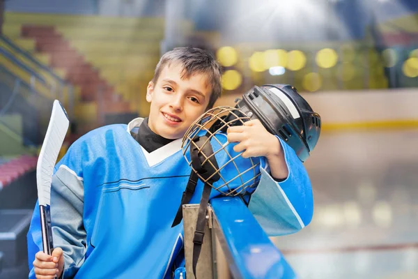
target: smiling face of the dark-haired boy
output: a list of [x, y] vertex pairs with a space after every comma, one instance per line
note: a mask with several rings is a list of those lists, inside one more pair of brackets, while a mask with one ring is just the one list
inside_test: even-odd
[[147, 87], [146, 100], [151, 103], [148, 126], [166, 139], [183, 137], [209, 103], [212, 89], [206, 75], [197, 73], [182, 80], [182, 73], [183, 65], [171, 63]]

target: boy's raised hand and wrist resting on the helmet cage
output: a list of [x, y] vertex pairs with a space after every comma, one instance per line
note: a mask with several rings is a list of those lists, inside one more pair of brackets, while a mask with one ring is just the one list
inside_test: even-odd
[[247, 121], [242, 126], [229, 127], [226, 134], [228, 142], [238, 142], [233, 151], [244, 151], [241, 155], [243, 158], [264, 156], [268, 160], [274, 179], [287, 178], [288, 167], [281, 144], [258, 119]]

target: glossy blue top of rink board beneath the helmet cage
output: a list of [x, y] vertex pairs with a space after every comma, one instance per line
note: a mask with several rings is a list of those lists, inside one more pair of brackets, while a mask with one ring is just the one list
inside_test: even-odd
[[233, 278], [297, 278], [239, 197], [218, 197], [211, 204]]

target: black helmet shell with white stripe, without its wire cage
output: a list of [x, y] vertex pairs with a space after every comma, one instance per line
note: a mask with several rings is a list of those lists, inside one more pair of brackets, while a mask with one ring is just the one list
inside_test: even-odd
[[258, 119], [273, 135], [279, 136], [304, 162], [316, 146], [320, 135], [320, 115], [294, 86], [266, 84], [254, 86], [242, 99], [235, 100], [241, 112]]

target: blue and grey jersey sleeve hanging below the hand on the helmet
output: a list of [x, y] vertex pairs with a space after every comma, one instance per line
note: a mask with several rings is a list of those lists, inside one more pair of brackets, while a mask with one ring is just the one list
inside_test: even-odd
[[[279, 138], [279, 137], [278, 137]], [[297, 232], [311, 222], [314, 200], [309, 176], [295, 151], [279, 138], [288, 167], [288, 177], [277, 182], [266, 163], [261, 163], [261, 179], [251, 194], [248, 208], [270, 236]]]

